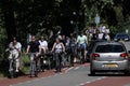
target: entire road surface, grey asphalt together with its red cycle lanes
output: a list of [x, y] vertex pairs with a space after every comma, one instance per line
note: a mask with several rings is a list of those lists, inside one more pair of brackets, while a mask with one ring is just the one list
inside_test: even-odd
[[90, 75], [89, 63], [64, 68], [61, 73], [49, 70], [38, 77], [0, 78], [0, 86], [130, 86], [130, 76], [122, 73]]

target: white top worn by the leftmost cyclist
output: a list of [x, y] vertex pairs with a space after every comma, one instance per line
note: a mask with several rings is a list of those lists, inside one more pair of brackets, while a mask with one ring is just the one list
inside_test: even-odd
[[16, 43], [16, 45], [13, 45], [13, 42], [9, 44], [9, 48], [11, 48], [12, 54], [17, 54], [22, 49], [22, 44], [20, 42]]

